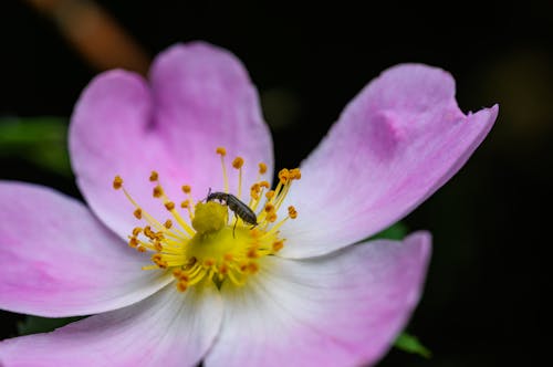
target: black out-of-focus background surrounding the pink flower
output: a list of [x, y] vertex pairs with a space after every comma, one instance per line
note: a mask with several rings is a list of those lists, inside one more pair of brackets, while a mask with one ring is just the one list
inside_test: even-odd
[[[298, 165], [343, 106], [396, 63], [450, 71], [465, 112], [499, 103], [497, 125], [468, 165], [405, 220], [434, 233], [426, 292], [408, 326], [434, 357], [392, 350], [380, 365], [538, 363], [550, 333], [551, 1], [98, 2], [149, 55], [197, 39], [236, 53], [260, 90], [278, 167]], [[0, 117], [70, 116], [97, 73], [23, 1], [0, 4]], [[3, 179], [79, 196], [72, 179], [15, 155], [0, 164]], [[13, 335], [15, 315], [0, 316], [1, 337]]]

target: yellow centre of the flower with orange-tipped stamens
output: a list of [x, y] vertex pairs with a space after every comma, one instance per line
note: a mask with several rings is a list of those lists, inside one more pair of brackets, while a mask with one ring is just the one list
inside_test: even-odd
[[[128, 235], [128, 245], [139, 252], [152, 253], [153, 264], [143, 270], [164, 270], [173, 273], [177, 290], [185, 292], [202, 281], [212, 281], [217, 286], [226, 281], [236, 285], [246, 283], [249, 275], [255, 274], [262, 265], [263, 258], [278, 253], [285, 239], [280, 237], [279, 229], [289, 219], [295, 219], [294, 207], [282, 208], [284, 198], [292, 182], [301, 178], [299, 168], [282, 169], [279, 182], [271, 190], [262, 176], [267, 165], [259, 164], [259, 175], [250, 187], [248, 202], [241, 201], [242, 167], [244, 159], [237, 157], [232, 168], [238, 170], [237, 195], [229, 192], [229, 180], [225, 157], [227, 151], [219, 147], [225, 192], [216, 192], [213, 198], [194, 203], [189, 185], [181, 190], [186, 199], [180, 202], [180, 209], [165, 193], [159, 181], [159, 175], [153, 171], [149, 180], [154, 188], [152, 195], [159, 199], [170, 218], [164, 222], [145, 211], [131, 196], [121, 176], [115, 176], [113, 187], [123, 190], [134, 206], [134, 217], [145, 221], [143, 227], [136, 227]], [[222, 199], [220, 199], [222, 198]], [[246, 208], [247, 207], [247, 208]], [[229, 216], [229, 209], [231, 214]], [[257, 222], [246, 218], [243, 212], [255, 216]], [[281, 212], [284, 214], [279, 220]]]

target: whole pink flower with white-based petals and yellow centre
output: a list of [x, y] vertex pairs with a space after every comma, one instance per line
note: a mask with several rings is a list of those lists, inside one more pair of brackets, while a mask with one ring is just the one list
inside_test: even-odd
[[[0, 365], [376, 363], [419, 300], [430, 234], [363, 240], [455, 175], [497, 114], [465, 115], [442, 70], [394, 66], [301, 172], [281, 171], [268, 205], [271, 137], [232, 54], [176, 45], [149, 84], [121, 70], [97, 76], [70, 129], [92, 212], [48, 188], [0, 184], [0, 307], [97, 315], [0, 343]], [[253, 196], [255, 228], [232, 197], [192, 206], [226, 187], [246, 203]], [[250, 220], [234, 223], [225, 203]]]

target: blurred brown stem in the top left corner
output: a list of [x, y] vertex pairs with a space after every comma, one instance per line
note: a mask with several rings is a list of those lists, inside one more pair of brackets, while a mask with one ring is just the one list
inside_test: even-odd
[[124, 67], [146, 75], [146, 52], [93, 0], [24, 1], [51, 18], [91, 66], [100, 71]]

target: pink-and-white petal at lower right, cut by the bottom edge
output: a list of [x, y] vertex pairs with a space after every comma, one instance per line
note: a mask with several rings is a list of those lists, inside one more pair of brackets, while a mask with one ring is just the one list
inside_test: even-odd
[[221, 335], [205, 365], [373, 364], [417, 304], [429, 255], [430, 235], [419, 232], [322, 258], [268, 258], [246, 286], [222, 287]]

